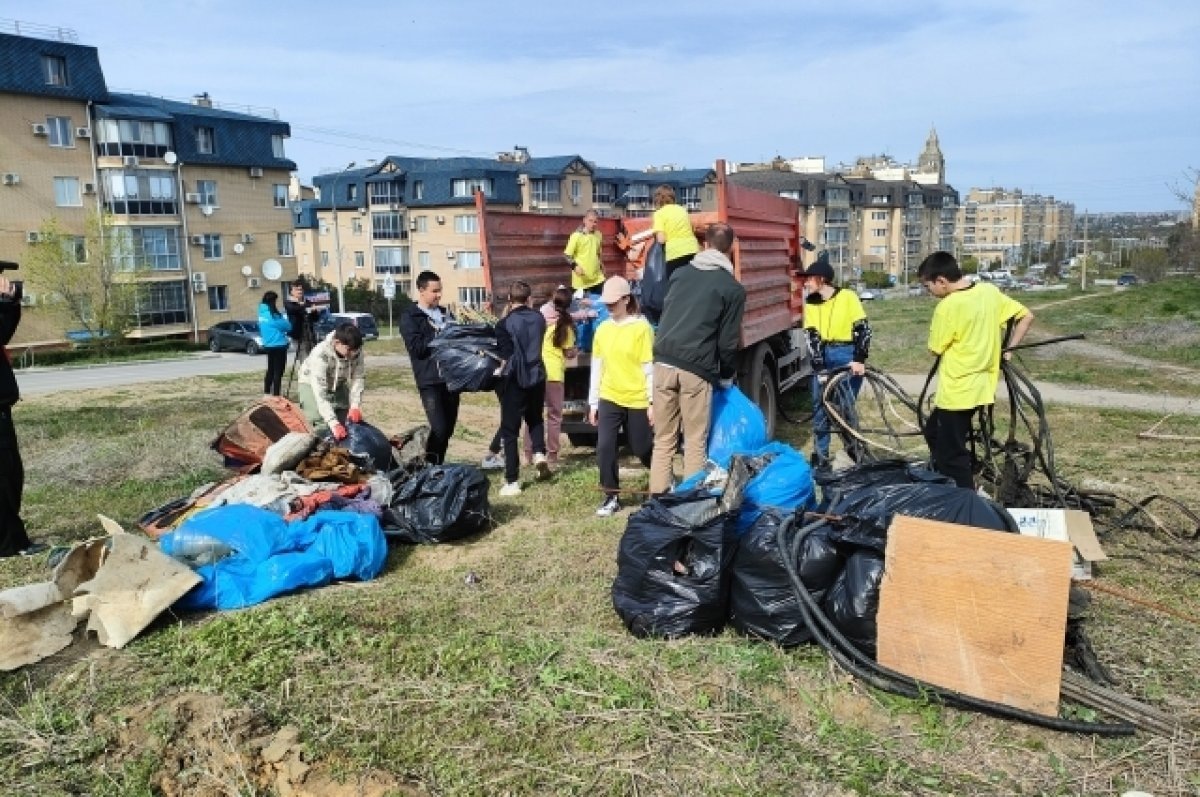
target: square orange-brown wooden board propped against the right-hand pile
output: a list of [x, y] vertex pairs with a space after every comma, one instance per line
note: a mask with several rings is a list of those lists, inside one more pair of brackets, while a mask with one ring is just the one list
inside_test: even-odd
[[880, 589], [880, 664], [1056, 717], [1072, 551], [896, 515]]

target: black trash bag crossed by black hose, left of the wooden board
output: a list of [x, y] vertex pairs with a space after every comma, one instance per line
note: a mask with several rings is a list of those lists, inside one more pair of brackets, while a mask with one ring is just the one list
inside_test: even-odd
[[[730, 624], [746, 636], [794, 647], [811, 640], [812, 633], [800, 613], [796, 589], [779, 553], [779, 527], [787, 517], [785, 513], [767, 509], [738, 540], [730, 580]], [[799, 528], [799, 522], [792, 525], [792, 539]], [[817, 605], [844, 564], [845, 557], [828, 525], [818, 526], [804, 538], [796, 568]]]

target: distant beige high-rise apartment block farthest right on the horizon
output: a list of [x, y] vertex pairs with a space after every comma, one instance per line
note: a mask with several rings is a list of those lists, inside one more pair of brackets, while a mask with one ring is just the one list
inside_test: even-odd
[[982, 264], [1028, 265], [1054, 247], [1066, 253], [1075, 206], [1020, 188], [971, 188], [959, 208], [955, 244]]

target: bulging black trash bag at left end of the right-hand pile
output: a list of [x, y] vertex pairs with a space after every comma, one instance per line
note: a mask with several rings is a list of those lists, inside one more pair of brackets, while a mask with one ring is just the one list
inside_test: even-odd
[[716, 634], [728, 611], [737, 514], [704, 490], [652, 498], [617, 552], [612, 606], [634, 636]]

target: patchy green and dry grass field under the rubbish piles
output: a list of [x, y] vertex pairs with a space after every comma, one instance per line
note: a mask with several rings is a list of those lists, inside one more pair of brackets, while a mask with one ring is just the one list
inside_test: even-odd
[[[1039, 310], [1028, 299], [1056, 334], [1076, 331], [1074, 305], [1096, 301]], [[869, 307], [872, 359], [906, 371], [913, 350], [928, 367], [931, 307]], [[1144, 317], [1124, 316], [1129, 325]], [[1112, 362], [1073, 367], [1087, 384], [1128, 384]], [[258, 379], [22, 402], [32, 533], [84, 539], [100, 533], [96, 513], [132, 528], [146, 509], [222, 478], [208, 444], [258, 396]], [[401, 370], [370, 372], [365, 409], [389, 432], [420, 420]], [[1196, 443], [1138, 438], [1159, 418], [1051, 407], [1048, 419], [1070, 481], [1200, 505]], [[468, 397], [451, 456], [476, 460], [494, 424], [494, 398]], [[788, 442], [808, 443], [806, 426], [781, 426]], [[1200, 419], [1171, 419], [1170, 431], [1200, 436]], [[0, 792], [1200, 792], [1190, 736], [1090, 738], [944, 709], [865, 687], [820, 648], [782, 651], [728, 631], [631, 637], [610, 597], [628, 511], [594, 517], [592, 453], [566, 451], [551, 483], [493, 499], [491, 532], [458, 545], [394, 546], [376, 581], [238, 612], [168, 615], [124, 651], [80, 640], [0, 673]], [[1094, 594], [1088, 628], [1100, 660], [1120, 690], [1195, 725], [1200, 634], [1187, 618], [1200, 616], [1200, 546], [1134, 532], [1103, 543], [1111, 558], [1100, 581], [1147, 603]], [[44, 559], [0, 561], [0, 587], [44, 576]], [[1072, 705], [1064, 715], [1094, 718]]]

